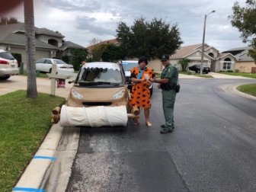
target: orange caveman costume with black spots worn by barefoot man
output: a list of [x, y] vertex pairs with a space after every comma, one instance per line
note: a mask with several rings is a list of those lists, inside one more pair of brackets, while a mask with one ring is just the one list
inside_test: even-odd
[[[152, 78], [155, 75], [153, 70], [147, 67], [144, 69], [141, 78], [145, 78], [146, 74], [149, 76], [149, 78]], [[138, 75], [139, 67], [134, 67], [133, 69], [131, 69], [131, 78], [137, 78]], [[130, 106], [143, 107], [145, 109], [151, 107], [149, 86], [150, 85], [148, 81], [133, 84]]]

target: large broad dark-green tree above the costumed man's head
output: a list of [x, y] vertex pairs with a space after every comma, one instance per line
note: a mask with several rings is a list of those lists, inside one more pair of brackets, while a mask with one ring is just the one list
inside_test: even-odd
[[165, 23], [162, 19], [136, 19], [131, 27], [124, 22], [117, 26], [117, 41], [120, 49], [128, 57], [146, 56], [148, 59], [160, 58], [163, 54], [173, 54], [182, 40], [178, 25]]

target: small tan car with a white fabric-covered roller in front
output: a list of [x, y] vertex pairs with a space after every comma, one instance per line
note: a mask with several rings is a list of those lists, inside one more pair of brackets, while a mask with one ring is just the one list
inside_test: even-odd
[[62, 126], [126, 126], [130, 94], [119, 64], [87, 62], [72, 82], [61, 107]]

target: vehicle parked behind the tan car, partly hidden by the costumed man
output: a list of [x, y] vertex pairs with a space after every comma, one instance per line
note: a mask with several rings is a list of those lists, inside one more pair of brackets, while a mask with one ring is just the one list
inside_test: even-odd
[[[133, 84], [132, 84], [132, 80], [130, 78], [130, 75], [131, 75], [130, 70], [133, 69], [133, 67], [139, 66], [138, 61], [132, 61], [132, 60], [122, 61], [122, 66], [123, 66], [123, 71], [124, 71], [125, 78], [126, 78], [126, 84], [128, 86], [128, 89], [130, 91], [132, 91]], [[150, 85], [149, 91], [150, 91], [150, 96], [152, 96], [153, 84]]]

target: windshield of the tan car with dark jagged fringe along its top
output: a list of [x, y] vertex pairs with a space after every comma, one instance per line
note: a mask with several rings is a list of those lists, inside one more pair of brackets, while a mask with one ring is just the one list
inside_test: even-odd
[[118, 69], [84, 68], [78, 76], [79, 85], [120, 85], [122, 82]]

